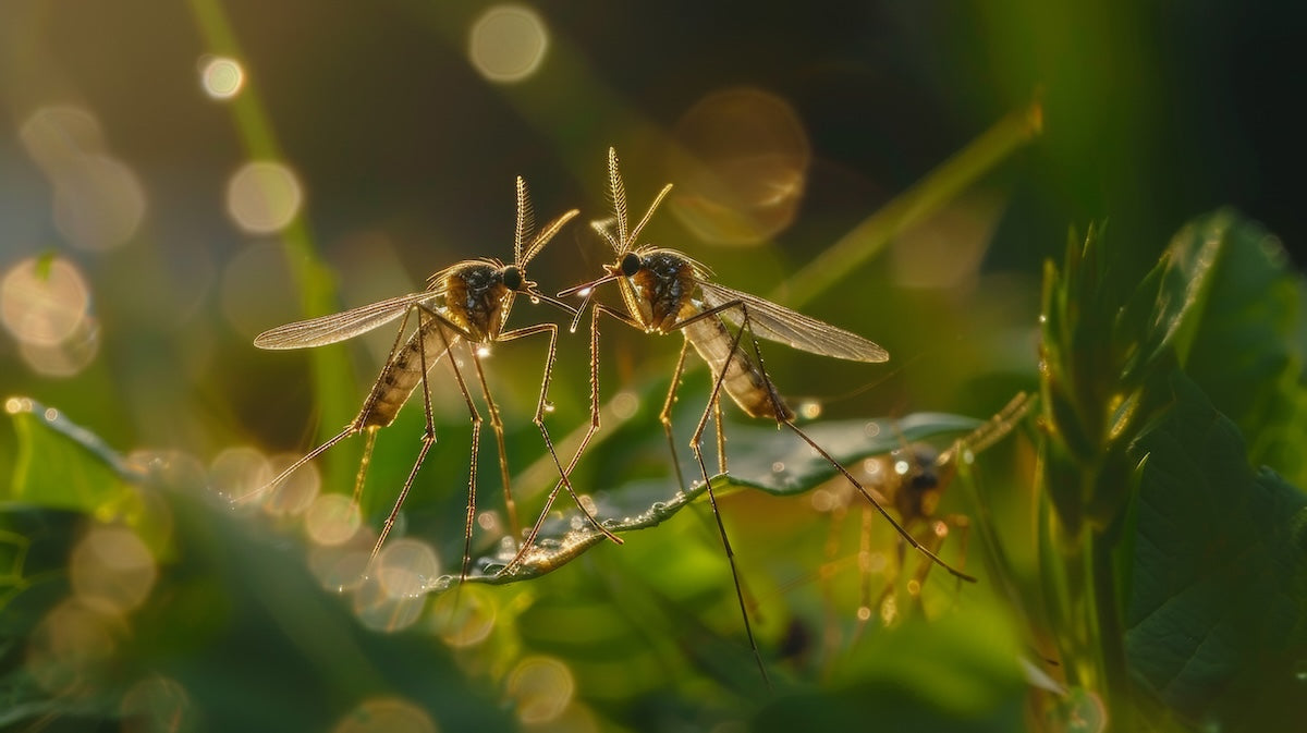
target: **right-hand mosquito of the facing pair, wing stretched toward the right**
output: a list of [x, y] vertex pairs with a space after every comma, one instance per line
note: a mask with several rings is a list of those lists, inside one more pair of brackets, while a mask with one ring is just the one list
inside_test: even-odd
[[[932, 562], [940, 564], [957, 578], [974, 581], [966, 575], [935, 555], [928, 547], [918, 542], [889, 512], [869, 494], [853, 476], [836, 461], [825, 448], [818, 446], [796, 423], [795, 412], [786, 404], [786, 400], [776, 391], [767, 376], [762, 363], [762, 353], [758, 346], [758, 336], [787, 344], [804, 351], [851, 359], [860, 362], [884, 362], [889, 359], [885, 349], [876, 344], [851, 333], [822, 323], [817, 319], [784, 308], [755, 295], [732, 290], [708, 280], [711, 272], [693, 260], [687, 255], [676, 250], [644, 244], [637, 247], [640, 231], [648, 223], [659, 204], [672, 189], [672, 184], [665, 186], [654, 199], [652, 205], [634, 227], [627, 226], [626, 192], [618, 171], [617, 153], [612, 148], [608, 150], [608, 179], [612, 192], [616, 217], [608, 221], [592, 222], [592, 227], [612, 246], [616, 263], [604, 265], [605, 274], [592, 282], [570, 287], [558, 294], [559, 298], [569, 295], [582, 295], [582, 307], [572, 319], [571, 328], [575, 331], [587, 306], [591, 308], [591, 430], [582, 442], [584, 449], [591, 435], [599, 429], [599, 318], [600, 314], [620, 320], [633, 328], [646, 333], [673, 333], [681, 332], [685, 341], [681, 345], [681, 354], [676, 362], [672, 375], [672, 387], [659, 419], [667, 434], [668, 444], [672, 448], [673, 465], [681, 489], [685, 490], [685, 480], [681, 474], [680, 459], [676, 453], [676, 440], [672, 434], [672, 405], [676, 401], [676, 391], [680, 387], [681, 374], [685, 368], [685, 358], [693, 346], [699, 357], [712, 371], [712, 392], [708, 402], [699, 417], [698, 426], [690, 439], [690, 448], [698, 463], [699, 476], [706, 485], [708, 504], [716, 519], [718, 532], [731, 564], [731, 574], [735, 580], [736, 597], [740, 602], [740, 611], [744, 615], [745, 632], [753, 649], [759, 670], [766, 679], [767, 672], [762, 662], [762, 655], [753, 636], [749, 623], [749, 613], [745, 608], [744, 592], [740, 584], [740, 572], [736, 567], [735, 553], [727, 537], [721, 513], [718, 511], [716, 497], [708, 476], [707, 464], [703, 460], [703, 432], [708, 418], [714, 418], [718, 443], [718, 469], [727, 472], [725, 436], [721, 426], [720, 396], [725, 391], [732, 400], [750, 417], [762, 417], [776, 421], [792, 430], [799, 438], [808, 443], [817, 453], [844, 476], [867, 500], [878, 510], [885, 519], [894, 525], [902, 537]], [[614, 231], [616, 229], [616, 231]], [[595, 290], [606, 282], [616, 281], [626, 306], [626, 312], [608, 307], [601, 303], [592, 303]], [[727, 321], [736, 325], [732, 332]], [[745, 334], [749, 334], [745, 341]], [[576, 456], [580, 455], [580, 449]], [[555, 486], [545, 510], [557, 497], [559, 487]], [[544, 515], [541, 515], [542, 520]], [[541, 521], [528, 533], [527, 542], [519, 551], [518, 562], [529, 547]], [[512, 563], [510, 563], [510, 568]]]

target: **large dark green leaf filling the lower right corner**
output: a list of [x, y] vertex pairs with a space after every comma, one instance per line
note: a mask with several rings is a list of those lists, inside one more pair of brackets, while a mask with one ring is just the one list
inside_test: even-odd
[[1129, 449], [1131, 669], [1189, 721], [1303, 729], [1307, 495], [1251, 470], [1236, 426], [1193, 382], [1175, 372], [1171, 385], [1174, 405]]

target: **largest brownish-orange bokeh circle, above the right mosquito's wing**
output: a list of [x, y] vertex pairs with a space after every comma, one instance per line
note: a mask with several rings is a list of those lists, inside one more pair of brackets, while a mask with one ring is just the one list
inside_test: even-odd
[[670, 206], [699, 238], [758, 244], [795, 220], [812, 148], [789, 102], [753, 88], [714, 91], [673, 129]]

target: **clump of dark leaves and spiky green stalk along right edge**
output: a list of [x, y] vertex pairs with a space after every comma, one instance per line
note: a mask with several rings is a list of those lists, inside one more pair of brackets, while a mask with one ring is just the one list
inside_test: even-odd
[[1042, 557], [1068, 682], [1125, 728], [1285, 725], [1307, 497], [1248, 460], [1300, 472], [1281, 448], [1302, 419], [1299, 285], [1230, 212], [1182, 230], [1133, 293], [1111, 256], [1091, 231], [1046, 280]]

